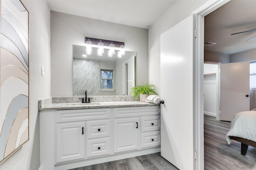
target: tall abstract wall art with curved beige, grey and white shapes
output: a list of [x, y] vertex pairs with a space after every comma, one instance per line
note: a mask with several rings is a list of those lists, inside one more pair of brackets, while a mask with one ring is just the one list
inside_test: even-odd
[[1, 0], [0, 163], [28, 141], [28, 11]]

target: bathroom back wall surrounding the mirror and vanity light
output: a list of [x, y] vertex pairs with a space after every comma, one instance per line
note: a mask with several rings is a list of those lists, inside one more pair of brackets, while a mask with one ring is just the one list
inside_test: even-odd
[[136, 82], [148, 82], [148, 29], [51, 11], [52, 96], [72, 96], [72, 45], [85, 37], [124, 42], [137, 52]]

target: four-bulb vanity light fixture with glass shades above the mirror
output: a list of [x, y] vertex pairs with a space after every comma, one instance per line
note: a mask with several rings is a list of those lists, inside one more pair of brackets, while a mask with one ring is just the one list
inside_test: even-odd
[[[90, 43], [91, 42], [91, 43]], [[102, 56], [104, 49], [108, 49], [108, 57], [113, 57], [115, 50], [118, 50], [117, 57], [121, 58], [125, 54], [124, 42], [109, 41], [105, 39], [96, 39], [85, 37], [86, 54], [92, 54], [92, 47], [97, 48], [97, 55]], [[90, 46], [91, 45], [91, 46]], [[87, 49], [88, 48], [88, 49]], [[87, 52], [88, 50], [88, 52]], [[90, 53], [89, 53], [90, 51]]]

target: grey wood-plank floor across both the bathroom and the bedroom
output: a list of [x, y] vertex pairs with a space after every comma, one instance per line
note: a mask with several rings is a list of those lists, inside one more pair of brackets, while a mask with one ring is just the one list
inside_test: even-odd
[[[248, 147], [246, 156], [240, 154], [241, 144], [226, 142], [230, 122], [216, 121], [204, 116], [204, 169], [205, 170], [256, 170], [256, 148]], [[178, 170], [160, 153], [137, 156], [72, 170]]]

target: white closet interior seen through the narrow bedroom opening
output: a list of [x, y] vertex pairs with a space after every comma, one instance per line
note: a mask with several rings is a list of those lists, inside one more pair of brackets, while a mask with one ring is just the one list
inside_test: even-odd
[[[204, 63], [204, 74], [213, 74], [217, 72], [216, 64]], [[216, 116], [217, 113], [217, 80], [216, 74], [204, 75], [204, 114]]]

